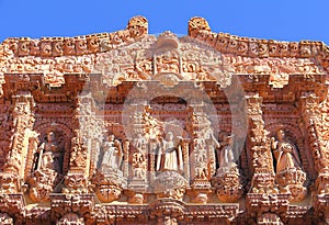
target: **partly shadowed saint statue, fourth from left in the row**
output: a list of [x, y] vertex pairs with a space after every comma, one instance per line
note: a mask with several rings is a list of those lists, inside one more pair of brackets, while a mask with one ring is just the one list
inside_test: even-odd
[[220, 135], [220, 146], [219, 151], [217, 154], [218, 156], [218, 165], [219, 168], [227, 168], [236, 166], [235, 164], [235, 156], [234, 156], [234, 139], [232, 135], [229, 135], [227, 133], [223, 133]]

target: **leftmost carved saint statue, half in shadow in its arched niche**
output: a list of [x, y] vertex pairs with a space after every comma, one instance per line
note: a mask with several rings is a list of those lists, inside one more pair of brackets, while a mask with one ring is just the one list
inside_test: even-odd
[[37, 170], [50, 170], [61, 173], [63, 142], [60, 142], [54, 131], [48, 131], [46, 142], [39, 148], [39, 159]]

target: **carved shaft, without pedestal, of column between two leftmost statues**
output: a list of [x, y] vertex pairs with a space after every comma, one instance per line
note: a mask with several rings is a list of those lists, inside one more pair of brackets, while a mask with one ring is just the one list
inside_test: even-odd
[[[64, 193], [88, 193], [88, 177], [94, 169], [92, 160], [100, 151], [99, 139], [102, 138], [102, 123], [95, 116], [95, 104], [91, 94], [80, 95], [75, 111], [75, 137], [71, 139], [69, 170], [65, 177]], [[91, 151], [95, 151], [92, 154]]]

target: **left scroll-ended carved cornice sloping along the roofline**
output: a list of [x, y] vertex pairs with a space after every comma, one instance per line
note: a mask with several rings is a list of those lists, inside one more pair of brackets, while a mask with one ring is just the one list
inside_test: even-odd
[[42, 37], [32, 40], [30, 37], [10, 37], [0, 45], [1, 57], [59, 57], [81, 56], [102, 53], [118, 46], [135, 42], [147, 35], [148, 23], [144, 16], [134, 16], [129, 20], [125, 30], [81, 35], [75, 37]]

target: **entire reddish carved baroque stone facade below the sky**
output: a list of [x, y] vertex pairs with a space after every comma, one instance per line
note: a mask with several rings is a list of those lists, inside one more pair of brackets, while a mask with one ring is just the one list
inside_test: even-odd
[[188, 30], [0, 44], [1, 224], [329, 224], [329, 47]]

